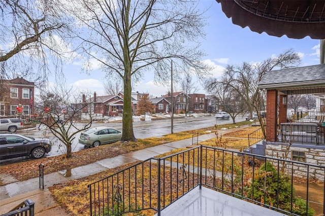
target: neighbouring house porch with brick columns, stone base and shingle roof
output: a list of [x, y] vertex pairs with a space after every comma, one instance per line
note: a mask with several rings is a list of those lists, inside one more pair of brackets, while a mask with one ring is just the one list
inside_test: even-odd
[[[323, 166], [325, 127], [321, 124], [319, 126], [320, 116], [308, 119], [308, 124], [291, 123], [290, 134], [287, 136], [284, 136], [285, 131], [281, 131], [281, 128], [287, 124], [288, 94], [325, 93], [325, 64], [269, 71], [259, 82], [258, 88], [266, 91], [267, 94], [266, 155], [275, 157], [288, 152], [290, 160]], [[313, 131], [311, 124], [316, 125]], [[320, 127], [319, 130], [317, 126]], [[306, 128], [309, 133], [305, 132]], [[288, 143], [290, 143], [289, 148]]]

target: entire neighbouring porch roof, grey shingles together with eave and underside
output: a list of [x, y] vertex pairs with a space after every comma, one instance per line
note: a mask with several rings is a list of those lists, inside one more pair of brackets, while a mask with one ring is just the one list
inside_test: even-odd
[[324, 93], [325, 64], [268, 71], [257, 88], [278, 90], [279, 94]]

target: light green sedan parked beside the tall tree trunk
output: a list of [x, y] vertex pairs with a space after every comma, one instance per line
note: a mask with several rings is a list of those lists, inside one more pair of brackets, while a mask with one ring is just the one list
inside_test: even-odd
[[98, 147], [122, 138], [122, 132], [110, 127], [95, 127], [80, 134], [79, 143], [85, 146]]

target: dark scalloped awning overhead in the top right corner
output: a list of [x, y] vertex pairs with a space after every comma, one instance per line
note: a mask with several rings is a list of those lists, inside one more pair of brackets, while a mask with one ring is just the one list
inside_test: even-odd
[[325, 39], [325, 1], [216, 0], [223, 13], [241, 27], [269, 35]]

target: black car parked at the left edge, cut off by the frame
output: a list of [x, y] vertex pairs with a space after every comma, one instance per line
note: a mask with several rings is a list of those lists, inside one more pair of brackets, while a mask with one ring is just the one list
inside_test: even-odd
[[51, 142], [47, 138], [0, 134], [0, 160], [18, 157], [38, 159], [44, 157], [51, 149]]

